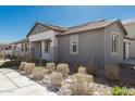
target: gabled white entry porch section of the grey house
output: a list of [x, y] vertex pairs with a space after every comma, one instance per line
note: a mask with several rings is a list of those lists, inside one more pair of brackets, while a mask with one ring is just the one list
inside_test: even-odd
[[57, 35], [64, 33], [63, 27], [36, 23], [26, 36], [29, 39], [29, 48], [34, 49], [35, 59], [58, 61], [58, 38]]

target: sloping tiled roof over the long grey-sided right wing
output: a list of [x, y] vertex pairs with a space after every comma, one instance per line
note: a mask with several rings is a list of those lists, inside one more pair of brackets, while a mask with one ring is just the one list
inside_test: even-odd
[[120, 20], [116, 18], [116, 20], [111, 20], [111, 21], [93, 22], [93, 23], [84, 24], [82, 26], [69, 28], [65, 33], [62, 33], [58, 36], [63, 36], [63, 35], [73, 34], [73, 33], [79, 33], [79, 31], [84, 31], [84, 30], [103, 28], [103, 27], [106, 27], [110, 24], [113, 24], [113, 23], [120, 24], [121, 27], [123, 28], [125, 35], [127, 35], [127, 31], [124, 28], [123, 24], [120, 22]]

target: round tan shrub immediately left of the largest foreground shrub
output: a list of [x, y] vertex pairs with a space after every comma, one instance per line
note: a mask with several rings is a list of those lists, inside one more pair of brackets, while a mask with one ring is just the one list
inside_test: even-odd
[[62, 73], [53, 72], [51, 74], [51, 87], [59, 88], [59, 87], [61, 87], [62, 81], [63, 81]]

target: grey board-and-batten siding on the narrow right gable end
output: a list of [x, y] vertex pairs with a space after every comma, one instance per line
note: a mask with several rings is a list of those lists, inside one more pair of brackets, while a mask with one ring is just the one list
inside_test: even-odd
[[[105, 53], [105, 63], [120, 63], [123, 60], [123, 36], [124, 31], [118, 24], [113, 24], [111, 26], [108, 26], [105, 30], [106, 34], [106, 53]], [[112, 54], [112, 35], [118, 34], [120, 37], [120, 48], [119, 48], [119, 54]]]

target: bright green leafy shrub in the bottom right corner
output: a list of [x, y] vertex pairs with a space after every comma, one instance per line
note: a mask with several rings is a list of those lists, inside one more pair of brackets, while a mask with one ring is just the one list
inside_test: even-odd
[[111, 89], [111, 94], [112, 96], [131, 96], [132, 93], [130, 93], [130, 91], [126, 87], [115, 86]]

